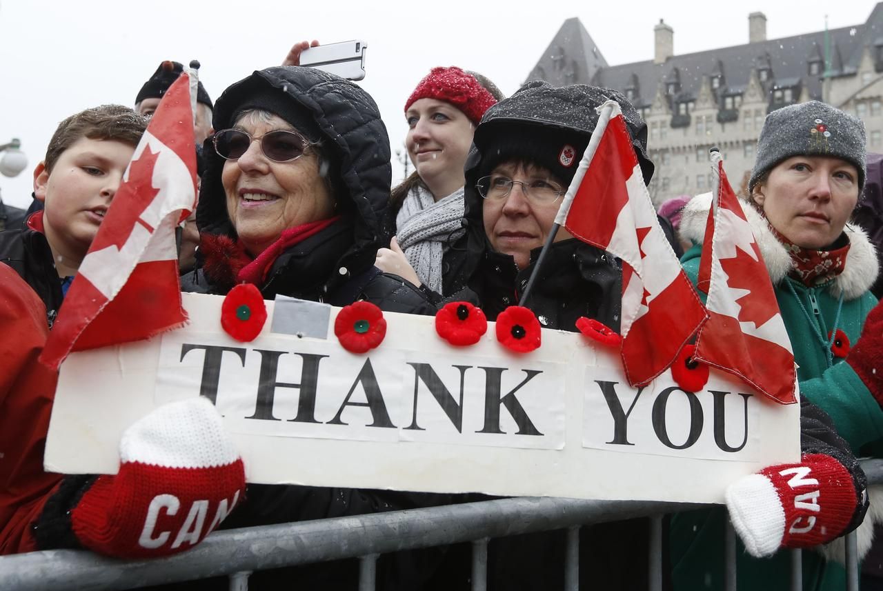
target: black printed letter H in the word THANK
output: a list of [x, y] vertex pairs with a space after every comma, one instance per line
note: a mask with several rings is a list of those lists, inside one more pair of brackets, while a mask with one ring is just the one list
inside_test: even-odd
[[254, 414], [246, 416], [246, 419], [260, 419], [262, 421], [281, 421], [273, 416], [273, 399], [276, 388], [300, 388], [298, 397], [298, 415], [291, 421], [298, 423], [319, 423], [313, 416], [316, 408], [316, 385], [319, 382], [319, 362], [328, 355], [313, 355], [312, 353], [295, 353], [304, 360], [304, 367], [300, 370], [300, 384], [286, 384], [275, 381], [276, 368], [279, 366], [279, 357], [285, 355], [285, 351], [265, 351], [254, 349], [260, 353], [260, 378], [258, 378], [258, 399], [254, 406]]

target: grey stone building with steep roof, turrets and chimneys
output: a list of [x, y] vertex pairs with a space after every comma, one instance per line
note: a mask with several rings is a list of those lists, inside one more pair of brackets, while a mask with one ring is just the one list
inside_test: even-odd
[[675, 32], [653, 27], [653, 59], [609, 65], [579, 19], [567, 19], [527, 79], [615, 88], [647, 122], [656, 164], [653, 202], [711, 189], [708, 151], [719, 146], [736, 191], [754, 164], [766, 114], [825, 101], [864, 120], [868, 151], [883, 152], [883, 3], [863, 24], [766, 38], [766, 16], [748, 16], [748, 42], [676, 56]]

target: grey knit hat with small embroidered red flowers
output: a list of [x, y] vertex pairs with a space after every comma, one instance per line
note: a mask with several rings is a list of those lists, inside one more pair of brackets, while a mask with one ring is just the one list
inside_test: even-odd
[[864, 189], [864, 123], [824, 102], [809, 101], [777, 108], [766, 116], [758, 138], [758, 157], [748, 191], [761, 176], [792, 156], [831, 156], [858, 170], [858, 194]]

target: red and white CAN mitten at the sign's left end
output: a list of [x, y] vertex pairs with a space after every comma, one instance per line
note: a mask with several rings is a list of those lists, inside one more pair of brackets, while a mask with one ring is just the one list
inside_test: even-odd
[[120, 441], [117, 475], [102, 475], [71, 512], [74, 535], [115, 557], [160, 557], [199, 543], [245, 495], [245, 468], [206, 398], [166, 404]]

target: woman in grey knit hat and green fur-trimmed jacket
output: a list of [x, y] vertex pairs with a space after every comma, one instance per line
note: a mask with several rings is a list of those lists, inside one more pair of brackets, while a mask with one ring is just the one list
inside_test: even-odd
[[[867, 236], [849, 223], [864, 188], [864, 146], [864, 123], [825, 103], [774, 110], [758, 139], [751, 207], [743, 207], [794, 349], [800, 392], [831, 416], [856, 454], [883, 436], [883, 309], [869, 291], [878, 264]], [[710, 194], [698, 196], [682, 214], [681, 236], [695, 244], [682, 263], [694, 283], [710, 206]], [[673, 520], [673, 547], [700, 546], [696, 525]], [[863, 529], [870, 534], [859, 528], [860, 551], [870, 546]], [[739, 569], [740, 589], [787, 587], [783, 552], [764, 561], [740, 556], [739, 566], [749, 562]], [[690, 574], [675, 576], [675, 588], [702, 587]], [[843, 580], [838, 565], [804, 553], [804, 589], [841, 588]]]

